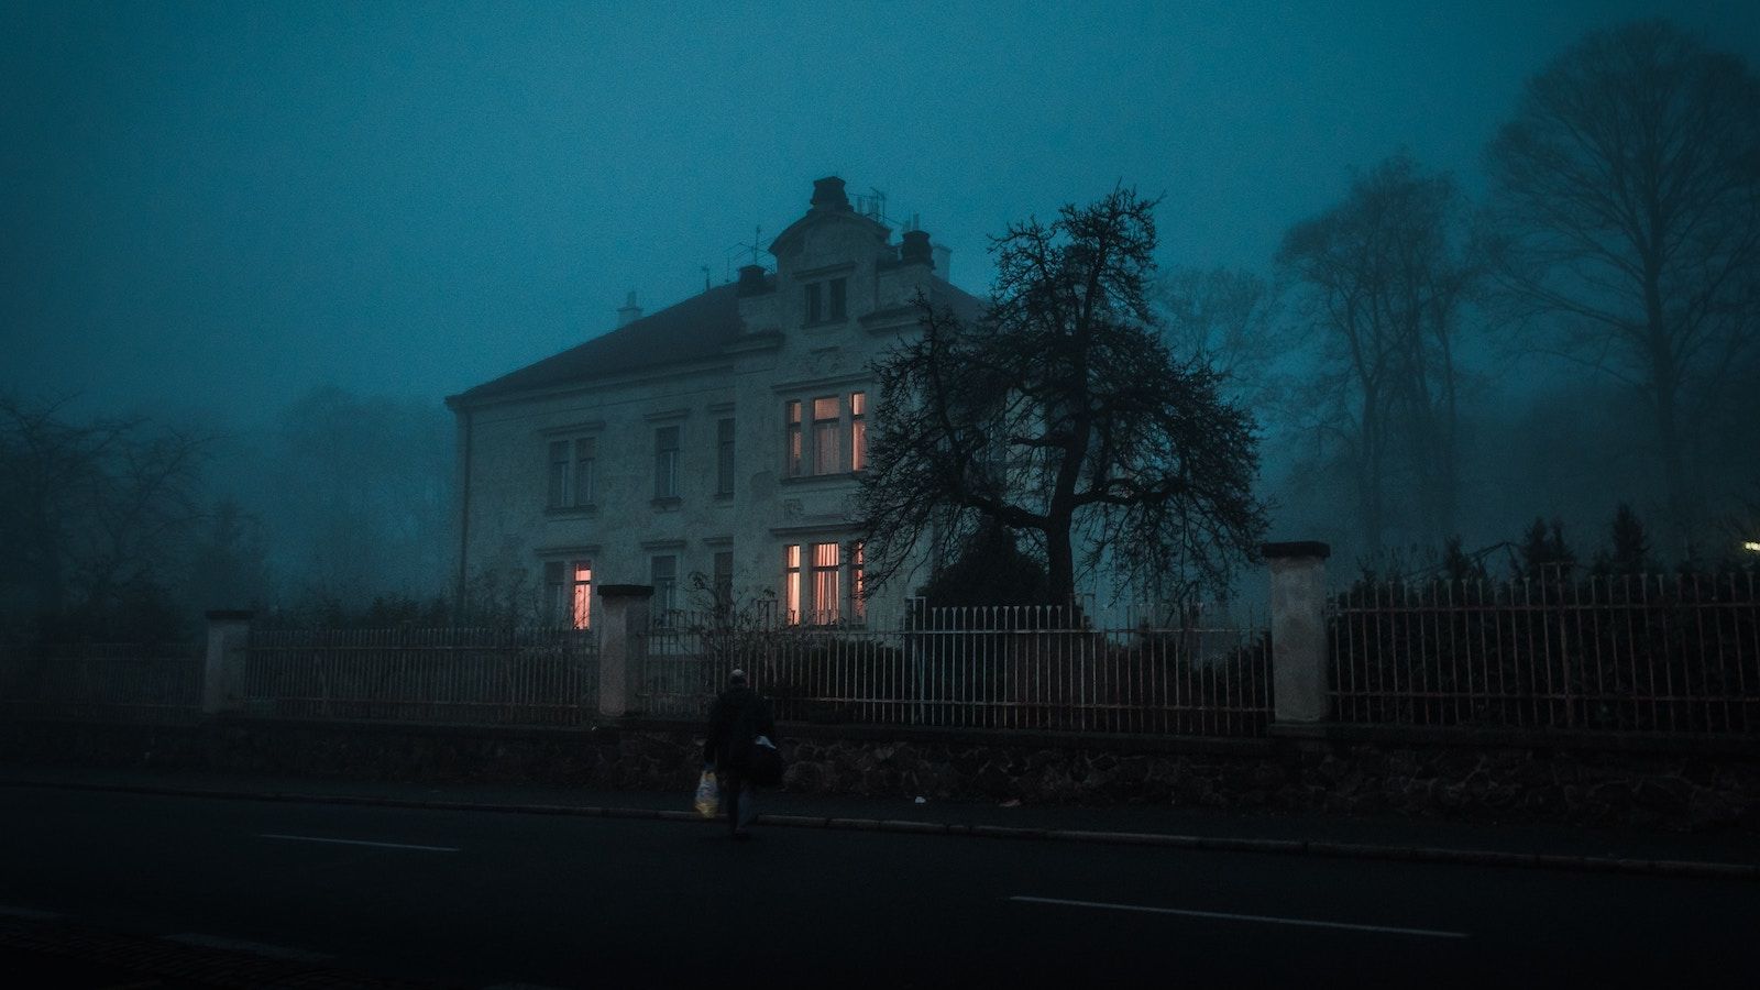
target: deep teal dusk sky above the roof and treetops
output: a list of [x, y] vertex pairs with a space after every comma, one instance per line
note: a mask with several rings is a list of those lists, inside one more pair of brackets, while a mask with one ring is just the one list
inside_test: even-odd
[[1163, 264], [1269, 270], [1401, 148], [1477, 190], [1524, 78], [1656, 14], [1760, 62], [1734, 2], [0, 0], [0, 389], [438, 403], [722, 282], [824, 174], [972, 291], [987, 234], [1118, 181], [1165, 194]]

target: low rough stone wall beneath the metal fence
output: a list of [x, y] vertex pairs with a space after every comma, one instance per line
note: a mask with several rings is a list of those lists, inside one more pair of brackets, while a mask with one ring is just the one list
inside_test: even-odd
[[[7, 722], [5, 763], [202, 768], [276, 777], [690, 789], [693, 726], [498, 729], [215, 719], [185, 726]], [[1172, 805], [1760, 831], [1748, 743], [1461, 733], [1272, 740], [783, 726], [804, 794]]]

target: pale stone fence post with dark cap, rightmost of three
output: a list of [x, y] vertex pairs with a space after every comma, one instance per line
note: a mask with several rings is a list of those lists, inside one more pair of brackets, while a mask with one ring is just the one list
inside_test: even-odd
[[1271, 720], [1325, 722], [1325, 558], [1316, 541], [1267, 543], [1271, 565]]

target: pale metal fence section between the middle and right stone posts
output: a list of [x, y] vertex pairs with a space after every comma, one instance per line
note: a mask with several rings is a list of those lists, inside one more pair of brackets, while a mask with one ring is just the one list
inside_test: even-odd
[[1037, 606], [917, 608], [843, 625], [672, 615], [646, 634], [635, 703], [700, 717], [739, 668], [783, 720], [1264, 735], [1267, 634], [1216, 610], [1174, 618], [1096, 627]]

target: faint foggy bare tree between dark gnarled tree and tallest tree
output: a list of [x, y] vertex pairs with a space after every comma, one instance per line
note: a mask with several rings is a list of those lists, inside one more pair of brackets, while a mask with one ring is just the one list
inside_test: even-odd
[[1357, 491], [1368, 550], [1410, 476], [1424, 528], [1448, 536], [1459, 491], [1463, 312], [1480, 278], [1463, 203], [1445, 174], [1397, 155], [1332, 210], [1292, 227], [1278, 262], [1318, 333], [1311, 426], [1334, 437]]

